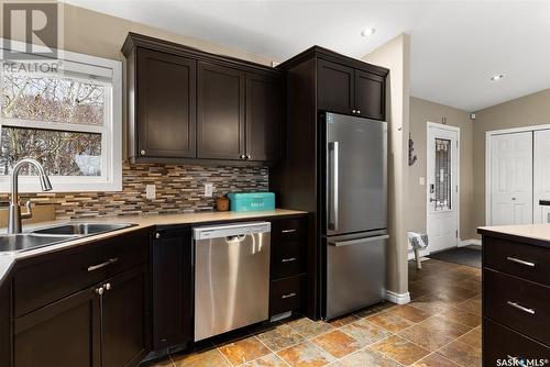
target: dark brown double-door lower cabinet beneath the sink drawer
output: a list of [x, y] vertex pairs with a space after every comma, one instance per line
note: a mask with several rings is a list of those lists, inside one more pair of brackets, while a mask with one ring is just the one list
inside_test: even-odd
[[139, 266], [15, 319], [13, 365], [138, 365], [147, 351], [146, 276]]

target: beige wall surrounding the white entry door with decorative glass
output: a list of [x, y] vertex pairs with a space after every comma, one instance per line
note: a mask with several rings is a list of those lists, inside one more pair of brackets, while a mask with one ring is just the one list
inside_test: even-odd
[[442, 123], [443, 118], [450, 126], [460, 127], [460, 227], [459, 237], [475, 237], [472, 218], [472, 141], [473, 125], [470, 113], [452, 107], [410, 98], [410, 137], [415, 142], [414, 154], [417, 160], [409, 170], [409, 207], [407, 230], [426, 232], [426, 185], [420, 185], [420, 177], [426, 179], [426, 138], [427, 122]]

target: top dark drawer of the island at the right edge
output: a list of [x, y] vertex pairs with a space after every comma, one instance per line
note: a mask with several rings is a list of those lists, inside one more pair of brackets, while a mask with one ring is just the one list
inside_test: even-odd
[[483, 266], [550, 286], [550, 251], [537, 246], [483, 237]]

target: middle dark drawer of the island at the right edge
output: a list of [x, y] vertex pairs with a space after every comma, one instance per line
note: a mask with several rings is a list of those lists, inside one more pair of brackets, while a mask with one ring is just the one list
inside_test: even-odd
[[550, 344], [550, 288], [484, 269], [484, 316]]

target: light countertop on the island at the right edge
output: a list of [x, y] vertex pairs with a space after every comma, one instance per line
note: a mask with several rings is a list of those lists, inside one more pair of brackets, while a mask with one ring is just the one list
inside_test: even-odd
[[477, 233], [550, 248], [550, 223], [481, 226]]

